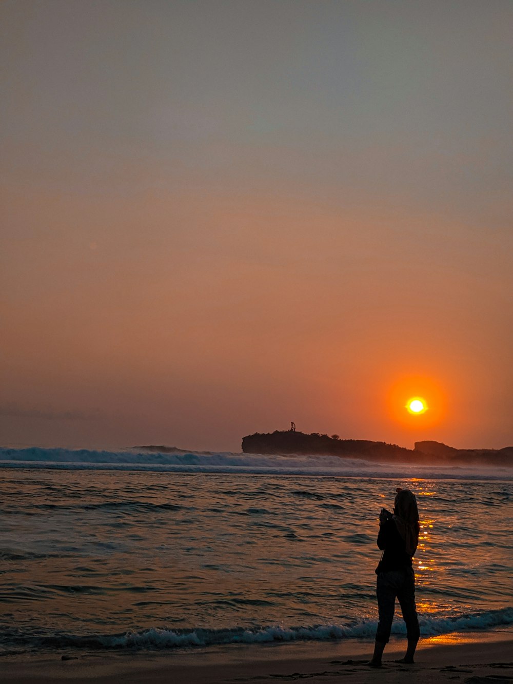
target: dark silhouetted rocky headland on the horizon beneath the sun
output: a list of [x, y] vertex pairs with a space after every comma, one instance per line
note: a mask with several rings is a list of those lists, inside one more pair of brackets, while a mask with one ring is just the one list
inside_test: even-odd
[[482, 464], [513, 467], [513, 447], [504, 449], [454, 449], [434, 441], [416, 442], [415, 449], [363, 439], [340, 439], [337, 435], [298, 430], [255, 432], [242, 438], [244, 453], [312, 453], [341, 458], [423, 464]]

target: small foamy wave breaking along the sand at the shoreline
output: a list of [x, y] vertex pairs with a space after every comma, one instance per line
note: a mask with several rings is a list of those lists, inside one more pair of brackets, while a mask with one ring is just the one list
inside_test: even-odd
[[[419, 618], [421, 637], [462, 631], [484, 631], [513, 624], [513, 607], [482, 611], [461, 616]], [[19, 631], [0, 633], [0, 653], [22, 652], [32, 649], [82, 648], [89, 650], [137, 649], [165, 650], [194, 646], [224, 644], [268, 644], [270, 642], [330, 641], [344, 639], [373, 639], [376, 621], [364, 620], [350, 625], [318, 624], [307, 627], [233, 627], [232, 629], [166, 629], [153, 627], [140, 632], [113, 635], [53, 634], [22, 635]], [[392, 633], [404, 635], [402, 620], [393, 623]]]

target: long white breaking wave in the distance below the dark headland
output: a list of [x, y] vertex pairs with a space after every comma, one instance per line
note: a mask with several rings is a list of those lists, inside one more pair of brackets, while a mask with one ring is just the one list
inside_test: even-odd
[[[339, 456], [280, 456], [260, 453], [183, 451], [95, 451], [92, 449], [0, 448], [0, 467], [145, 470], [200, 473], [343, 475], [345, 477], [430, 477], [434, 479], [513, 479], [512, 470], [497, 466], [426, 466], [378, 463]], [[298, 496], [304, 492], [296, 492]]]

